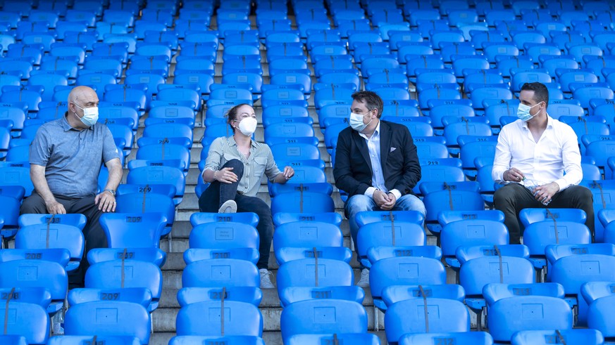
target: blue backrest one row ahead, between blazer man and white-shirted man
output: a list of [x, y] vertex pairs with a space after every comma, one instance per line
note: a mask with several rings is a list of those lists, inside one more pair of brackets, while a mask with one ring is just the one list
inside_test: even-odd
[[442, 255], [454, 256], [458, 247], [471, 245], [508, 245], [504, 223], [490, 220], [463, 220], [447, 223], [440, 233]]

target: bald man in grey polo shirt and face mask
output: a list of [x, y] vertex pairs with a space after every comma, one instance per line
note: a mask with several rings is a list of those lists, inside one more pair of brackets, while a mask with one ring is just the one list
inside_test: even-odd
[[[79, 213], [87, 217], [83, 229], [85, 254], [82, 266], [70, 282], [82, 285], [89, 249], [106, 247], [99, 223], [103, 212], [116, 210], [116, 189], [122, 179], [118, 148], [111, 131], [97, 123], [99, 99], [87, 86], [68, 95], [68, 112], [43, 124], [30, 145], [30, 178], [36, 193], [21, 205], [21, 214]], [[101, 164], [109, 171], [102, 193], [97, 195]]]

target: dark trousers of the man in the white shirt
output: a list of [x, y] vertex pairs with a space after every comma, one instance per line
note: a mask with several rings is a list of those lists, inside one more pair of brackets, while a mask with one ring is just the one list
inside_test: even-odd
[[518, 183], [504, 185], [495, 191], [493, 203], [496, 209], [504, 212], [511, 244], [518, 244], [521, 237], [519, 211], [527, 208], [534, 209], [583, 209], [588, 215], [585, 225], [590, 228], [592, 239], [594, 237], [594, 197], [588, 188], [580, 185], [571, 185], [569, 188], [555, 193], [551, 202], [545, 206], [534, 198], [532, 192]]

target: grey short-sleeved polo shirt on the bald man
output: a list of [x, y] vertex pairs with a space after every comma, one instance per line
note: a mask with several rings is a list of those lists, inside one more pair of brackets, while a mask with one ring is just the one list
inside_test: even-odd
[[66, 116], [43, 124], [30, 145], [30, 164], [46, 167], [51, 193], [64, 197], [96, 195], [101, 164], [113, 158], [119, 152], [107, 126], [80, 131]]

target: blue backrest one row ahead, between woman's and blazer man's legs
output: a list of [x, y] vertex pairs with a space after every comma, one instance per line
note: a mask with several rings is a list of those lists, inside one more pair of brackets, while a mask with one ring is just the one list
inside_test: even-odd
[[283, 247], [342, 247], [342, 230], [321, 221], [285, 223], [273, 233], [273, 251]]

